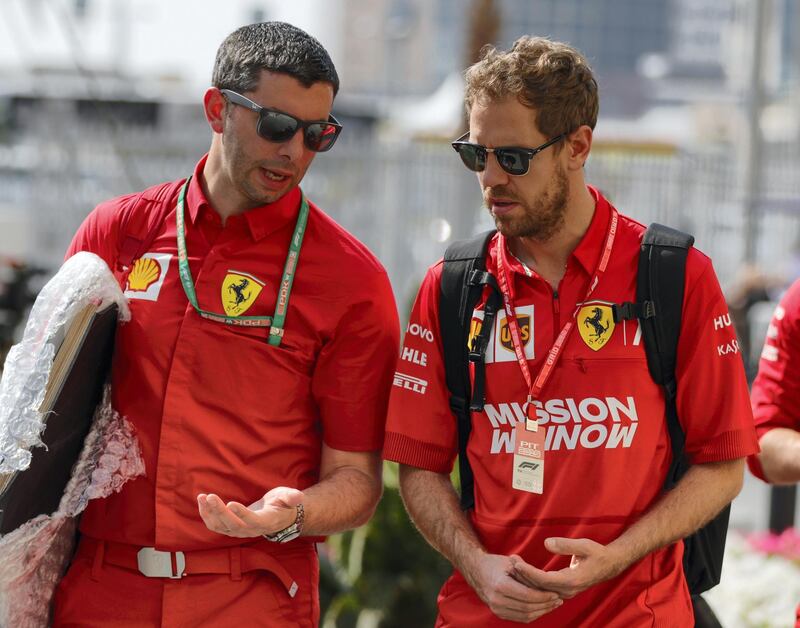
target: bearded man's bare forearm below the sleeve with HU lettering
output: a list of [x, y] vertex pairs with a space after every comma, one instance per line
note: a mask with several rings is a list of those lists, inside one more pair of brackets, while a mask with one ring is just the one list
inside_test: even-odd
[[625, 567], [708, 523], [742, 487], [744, 459], [693, 465], [641, 519], [608, 545]]

